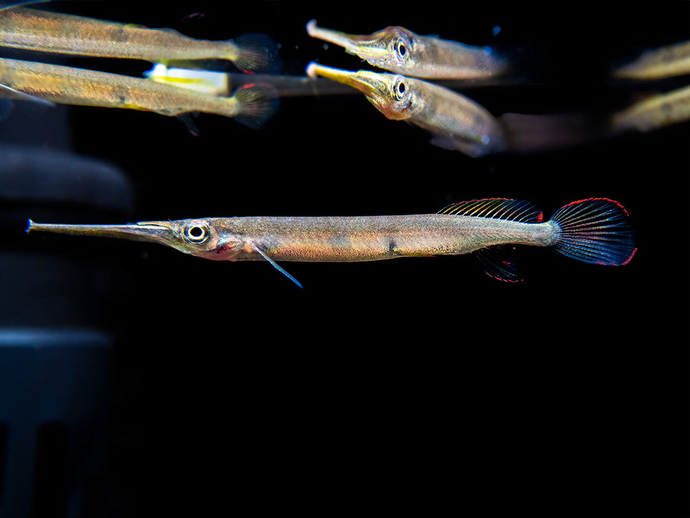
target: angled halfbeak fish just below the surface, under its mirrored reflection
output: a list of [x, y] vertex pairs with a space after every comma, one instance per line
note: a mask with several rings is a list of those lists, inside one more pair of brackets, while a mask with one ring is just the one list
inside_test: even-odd
[[397, 74], [341, 70], [311, 62], [306, 73], [357, 88], [388, 119], [424, 128], [432, 144], [471, 157], [506, 151], [504, 128], [480, 104], [437, 84]]

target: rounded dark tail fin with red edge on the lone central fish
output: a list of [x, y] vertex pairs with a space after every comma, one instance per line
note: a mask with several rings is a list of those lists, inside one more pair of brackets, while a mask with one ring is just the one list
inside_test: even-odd
[[561, 207], [553, 249], [597, 265], [626, 265], [635, 255], [635, 238], [625, 208], [608, 198], [588, 198]]

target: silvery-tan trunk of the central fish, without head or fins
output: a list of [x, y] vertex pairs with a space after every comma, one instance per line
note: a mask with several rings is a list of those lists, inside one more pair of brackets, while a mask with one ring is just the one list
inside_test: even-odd
[[353, 262], [459, 255], [496, 244], [548, 247], [558, 233], [553, 222], [449, 214], [213, 218], [210, 226], [223, 231], [217, 247], [202, 256], [233, 261], [262, 260], [246, 243], [235, 246], [241, 236], [277, 261]]

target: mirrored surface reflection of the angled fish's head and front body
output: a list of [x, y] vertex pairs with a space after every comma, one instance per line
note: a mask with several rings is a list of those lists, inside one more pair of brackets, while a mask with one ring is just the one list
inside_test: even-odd
[[349, 35], [306, 25], [311, 37], [341, 46], [373, 66], [425, 79], [479, 79], [503, 75], [509, 62], [491, 47], [474, 47], [433, 36], [420, 36], [404, 27], [387, 27], [368, 36]]

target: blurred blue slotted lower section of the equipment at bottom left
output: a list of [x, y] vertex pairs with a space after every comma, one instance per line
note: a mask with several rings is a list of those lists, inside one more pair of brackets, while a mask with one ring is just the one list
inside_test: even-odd
[[89, 329], [0, 329], [4, 517], [83, 515], [74, 490], [102, 458], [111, 345]]

